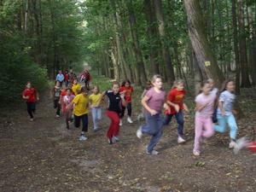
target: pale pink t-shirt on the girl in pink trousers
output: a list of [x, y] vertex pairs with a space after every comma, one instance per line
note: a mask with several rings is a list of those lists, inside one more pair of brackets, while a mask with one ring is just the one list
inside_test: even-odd
[[205, 105], [207, 104], [207, 107], [201, 109], [201, 111], [196, 111], [195, 115], [204, 117], [204, 118], [211, 118], [213, 113], [213, 104], [215, 100], [215, 95], [209, 94], [206, 96], [205, 94], [201, 93], [198, 96], [195, 97], [195, 102]]

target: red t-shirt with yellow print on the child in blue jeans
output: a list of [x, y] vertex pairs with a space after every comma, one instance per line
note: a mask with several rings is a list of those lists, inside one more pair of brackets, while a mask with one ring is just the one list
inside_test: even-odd
[[[180, 110], [182, 110], [185, 94], [186, 94], [185, 90], [177, 90], [177, 88], [175, 87], [169, 91], [168, 96], [167, 96], [167, 101], [177, 104], [179, 106]], [[175, 108], [173, 108], [172, 106], [170, 106], [170, 108], [171, 108], [171, 113], [166, 110], [165, 111], [166, 114], [177, 113]]]

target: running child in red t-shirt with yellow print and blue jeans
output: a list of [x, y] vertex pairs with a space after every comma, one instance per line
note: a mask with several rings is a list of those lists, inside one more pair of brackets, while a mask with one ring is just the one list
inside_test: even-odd
[[184, 82], [182, 79], [178, 79], [174, 82], [172, 90], [169, 91], [167, 96], [167, 104], [171, 110], [166, 110], [166, 117], [164, 119], [164, 125], [168, 125], [172, 120], [172, 116], [175, 115], [177, 120], [177, 143], [185, 143], [183, 134], [183, 110], [189, 112], [188, 107], [183, 102], [186, 91], [184, 90]]

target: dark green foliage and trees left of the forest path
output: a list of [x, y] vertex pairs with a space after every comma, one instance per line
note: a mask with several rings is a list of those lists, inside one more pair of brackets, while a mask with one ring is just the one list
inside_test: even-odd
[[27, 81], [44, 90], [47, 76], [55, 78], [59, 68], [82, 69], [85, 38], [80, 5], [78, 0], [1, 1], [2, 101], [19, 99]]

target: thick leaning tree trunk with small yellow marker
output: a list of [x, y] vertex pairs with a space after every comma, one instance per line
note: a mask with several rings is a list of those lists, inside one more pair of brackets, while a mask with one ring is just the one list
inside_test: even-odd
[[219, 85], [224, 75], [215, 61], [203, 30], [201, 7], [198, 0], [183, 0], [188, 15], [189, 38], [203, 79], [212, 78]]

